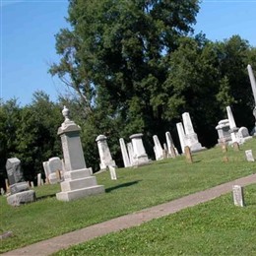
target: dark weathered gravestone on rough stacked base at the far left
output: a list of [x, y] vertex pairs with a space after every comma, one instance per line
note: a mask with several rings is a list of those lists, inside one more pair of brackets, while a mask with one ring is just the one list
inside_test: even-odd
[[17, 158], [6, 161], [6, 170], [9, 180], [9, 189], [11, 195], [7, 197], [7, 203], [12, 206], [20, 206], [35, 201], [35, 192], [30, 190], [26, 181], [24, 181], [21, 169], [21, 161]]

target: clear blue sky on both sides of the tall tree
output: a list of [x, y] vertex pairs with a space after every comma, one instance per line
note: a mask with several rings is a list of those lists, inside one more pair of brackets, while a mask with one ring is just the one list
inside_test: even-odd
[[[68, 0], [0, 0], [0, 7], [0, 98], [26, 105], [43, 91], [57, 100], [66, 88], [48, 69], [60, 58], [54, 35], [68, 27]], [[213, 41], [239, 34], [256, 47], [256, 0], [203, 0], [200, 7], [196, 33]]]

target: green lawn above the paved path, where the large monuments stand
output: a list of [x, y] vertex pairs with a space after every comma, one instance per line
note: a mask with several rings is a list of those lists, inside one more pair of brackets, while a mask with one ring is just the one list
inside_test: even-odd
[[[13, 237], [1, 241], [0, 252], [19, 248], [91, 224], [164, 203], [226, 181], [255, 172], [255, 163], [247, 162], [244, 151], [256, 152], [255, 139], [224, 154], [217, 147], [193, 156], [194, 163], [184, 157], [154, 161], [139, 168], [117, 169], [118, 180], [110, 180], [108, 172], [96, 175], [105, 194], [72, 202], [56, 200], [60, 185], [35, 188], [37, 201], [21, 207], [7, 205], [0, 197], [2, 231], [13, 231]], [[223, 161], [226, 155], [228, 162]]]

